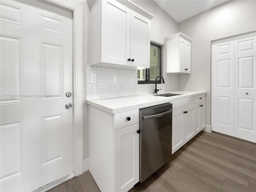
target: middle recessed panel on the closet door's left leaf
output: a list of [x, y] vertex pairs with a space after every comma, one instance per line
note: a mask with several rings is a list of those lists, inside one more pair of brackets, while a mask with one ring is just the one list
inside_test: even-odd
[[227, 60], [218, 60], [217, 66], [217, 79], [218, 79], [218, 88], [230, 88], [231, 87], [231, 74], [230, 74], [230, 59]]

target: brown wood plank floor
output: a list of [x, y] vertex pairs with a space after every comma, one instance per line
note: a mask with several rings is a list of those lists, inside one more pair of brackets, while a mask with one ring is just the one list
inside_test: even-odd
[[[89, 171], [49, 192], [99, 192]], [[130, 192], [256, 192], [256, 144], [200, 132]]]

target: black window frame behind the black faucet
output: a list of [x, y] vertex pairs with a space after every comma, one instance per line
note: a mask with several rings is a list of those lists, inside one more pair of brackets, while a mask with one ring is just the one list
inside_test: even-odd
[[[162, 60], [161, 60], [162, 46], [158, 45], [158, 44], [155, 44], [153, 42], [150, 42], [150, 46], [158, 48], [158, 68], [159, 68], [158, 76], [161, 76], [161, 74], [162, 74], [162, 71], [161, 71], [161, 68], [162, 68]], [[157, 81], [149, 80], [149, 78], [150, 78], [150, 68], [145, 69], [145, 77], [146, 77], [146, 80], [138, 80], [138, 84], [155, 84], [155, 83], [161, 84], [162, 83], [162, 78], [158, 78]]]

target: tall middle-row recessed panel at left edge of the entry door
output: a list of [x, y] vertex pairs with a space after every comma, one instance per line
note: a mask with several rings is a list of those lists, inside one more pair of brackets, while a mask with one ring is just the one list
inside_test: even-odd
[[0, 34], [0, 104], [22, 101], [22, 38]]

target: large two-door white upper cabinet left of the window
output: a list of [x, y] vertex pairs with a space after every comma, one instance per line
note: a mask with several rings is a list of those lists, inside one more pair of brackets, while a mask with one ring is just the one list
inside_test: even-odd
[[128, 2], [104, 0], [93, 4], [90, 65], [150, 67], [150, 19], [154, 16]]

